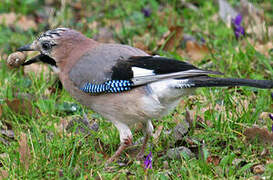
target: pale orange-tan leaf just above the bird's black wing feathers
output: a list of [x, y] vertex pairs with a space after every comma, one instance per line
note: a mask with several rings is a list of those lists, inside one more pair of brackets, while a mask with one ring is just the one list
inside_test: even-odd
[[186, 52], [193, 61], [200, 61], [210, 53], [210, 50], [205, 44], [199, 45], [197, 42], [187, 41]]

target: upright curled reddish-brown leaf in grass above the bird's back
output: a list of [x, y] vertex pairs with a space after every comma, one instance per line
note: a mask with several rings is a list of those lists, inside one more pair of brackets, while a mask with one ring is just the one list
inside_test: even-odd
[[183, 27], [181, 26], [172, 26], [169, 29], [170, 34], [167, 41], [165, 41], [164, 51], [172, 51], [176, 48], [183, 39]]

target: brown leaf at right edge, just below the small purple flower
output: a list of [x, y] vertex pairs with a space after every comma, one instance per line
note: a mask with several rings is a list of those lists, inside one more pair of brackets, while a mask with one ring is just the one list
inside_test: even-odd
[[247, 141], [258, 139], [263, 144], [273, 144], [273, 133], [269, 132], [266, 128], [247, 128], [244, 132]]

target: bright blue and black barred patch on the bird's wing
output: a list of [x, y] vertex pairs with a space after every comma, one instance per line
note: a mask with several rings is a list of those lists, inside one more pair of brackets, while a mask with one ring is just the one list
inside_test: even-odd
[[99, 93], [119, 93], [123, 91], [129, 91], [134, 86], [134, 83], [130, 80], [110, 80], [103, 84], [91, 84], [85, 83], [81, 88], [82, 91], [91, 94]]

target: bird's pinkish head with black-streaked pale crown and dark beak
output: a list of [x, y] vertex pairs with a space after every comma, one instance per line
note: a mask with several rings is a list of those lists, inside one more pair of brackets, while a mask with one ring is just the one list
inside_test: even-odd
[[44, 62], [47, 62], [46, 59], [50, 59], [51, 62], [55, 61], [55, 64], [58, 65], [86, 40], [88, 38], [78, 31], [57, 28], [42, 33], [31, 44], [22, 46], [17, 51], [39, 51], [41, 54], [35, 57], [36, 59], [40, 58]]

